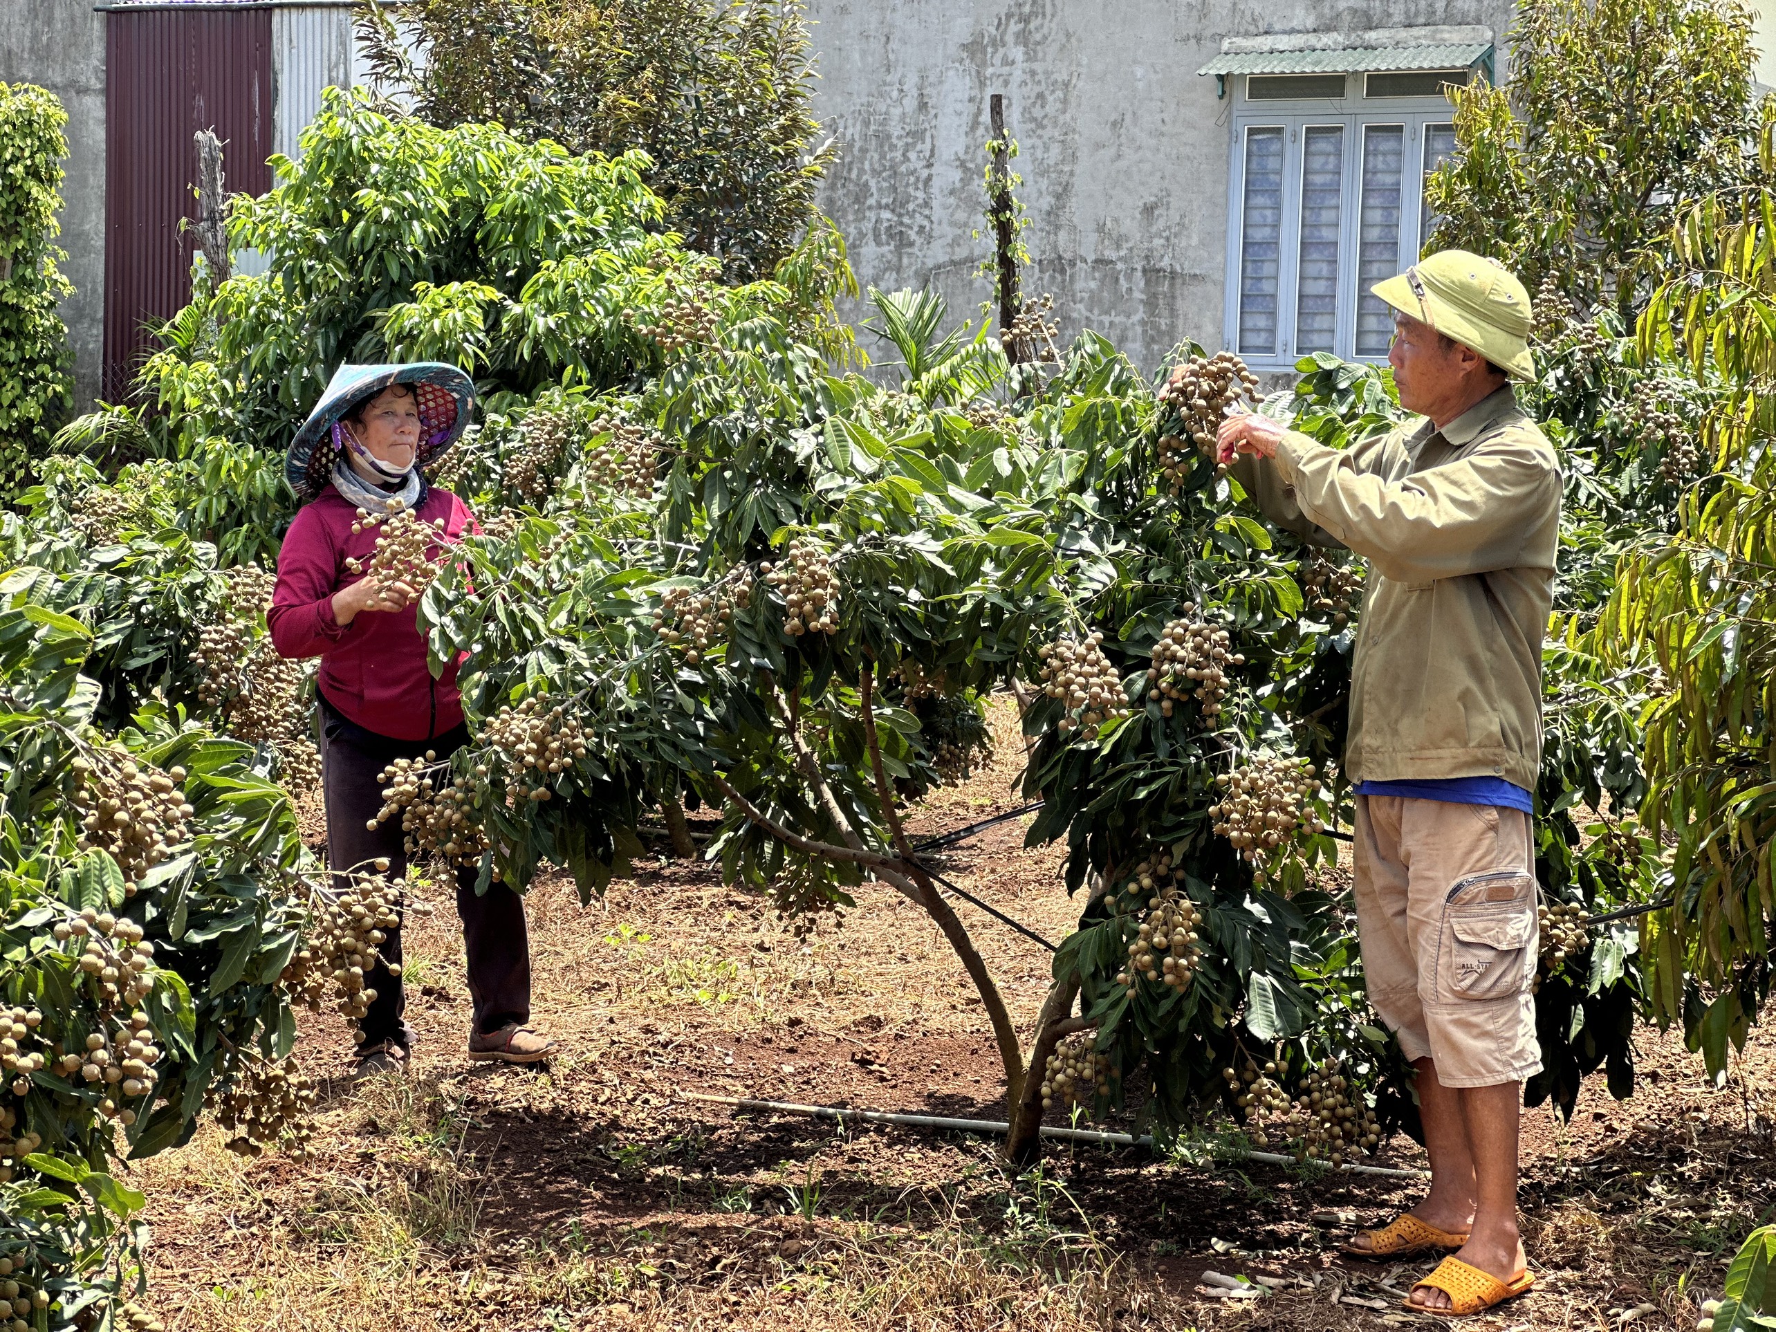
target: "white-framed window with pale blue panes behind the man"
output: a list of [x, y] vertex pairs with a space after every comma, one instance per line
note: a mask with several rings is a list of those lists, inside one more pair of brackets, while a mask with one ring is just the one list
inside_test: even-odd
[[1389, 309], [1369, 293], [1435, 229], [1424, 178], [1455, 151], [1467, 71], [1243, 75], [1229, 82], [1227, 345], [1254, 369], [1311, 352], [1382, 361]]

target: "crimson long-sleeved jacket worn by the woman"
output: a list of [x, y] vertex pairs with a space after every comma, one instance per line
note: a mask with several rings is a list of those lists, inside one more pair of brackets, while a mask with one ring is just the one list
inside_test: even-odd
[[[444, 540], [480, 527], [469, 506], [449, 490], [433, 488], [419, 520], [444, 519]], [[277, 556], [277, 591], [265, 620], [272, 645], [284, 657], [320, 657], [320, 691], [348, 721], [392, 741], [430, 741], [462, 723], [456, 668], [467, 654], [432, 678], [417, 607], [359, 611], [350, 625], [334, 620], [332, 597], [361, 575], [346, 574], [346, 558], [369, 565], [377, 529], [352, 531], [357, 510], [327, 487], [297, 513]]]

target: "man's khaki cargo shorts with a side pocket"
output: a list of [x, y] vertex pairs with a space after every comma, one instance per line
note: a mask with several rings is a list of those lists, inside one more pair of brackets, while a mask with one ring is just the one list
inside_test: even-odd
[[1494, 805], [1357, 797], [1357, 931], [1369, 1002], [1446, 1087], [1542, 1071], [1534, 842]]

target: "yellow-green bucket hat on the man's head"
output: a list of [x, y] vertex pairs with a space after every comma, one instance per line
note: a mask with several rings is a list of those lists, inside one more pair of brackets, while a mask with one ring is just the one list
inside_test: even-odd
[[1529, 293], [1497, 259], [1439, 250], [1371, 291], [1401, 314], [1479, 352], [1511, 378], [1536, 377], [1529, 357], [1534, 327]]

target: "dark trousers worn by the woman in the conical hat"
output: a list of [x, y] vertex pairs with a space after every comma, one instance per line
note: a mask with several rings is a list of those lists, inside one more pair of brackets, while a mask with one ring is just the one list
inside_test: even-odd
[[[426, 749], [448, 758], [469, 742], [469, 730], [458, 726], [432, 741], [391, 741], [343, 718], [321, 700], [321, 792], [327, 803], [327, 861], [334, 872], [371, 868], [366, 861], [387, 856], [389, 877], [407, 874], [407, 851], [400, 821], [369, 828], [382, 810], [384, 767], [396, 758], [419, 758]], [[474, 1002], [474, 1030], [497, 1032], [506, 1023], [531, 1018], [531, 947], [524, 929], [524, 900], [503, 883], [490, 883], [476, 895], [480, 868], [456, 870], [456, 915], [469, 957], [469, 998]], [[382, 1041], [412, 1044], [412, 1030], [403, 1021], [407, 995], [389, 964], [401, 963], [401, 931], [387, 932], [378, 948], [377, 968], [364, 984], [377, 991], [364, 1018], [364, 1046]]]

